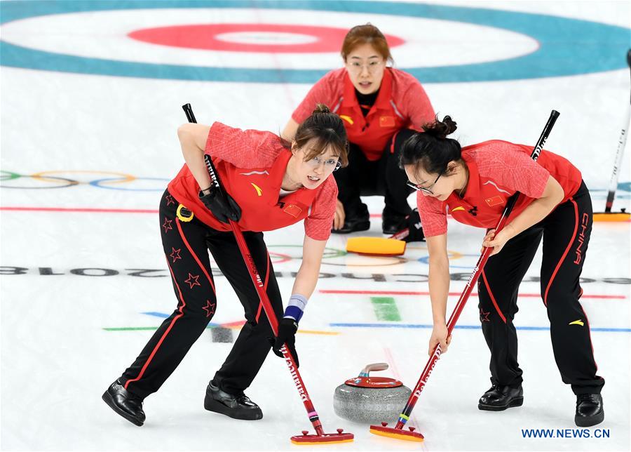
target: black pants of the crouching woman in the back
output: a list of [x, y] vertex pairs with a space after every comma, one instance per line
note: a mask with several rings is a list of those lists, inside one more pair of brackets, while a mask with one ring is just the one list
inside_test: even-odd
[[344, 212], [348, 218], [355, 218], [368, 212], [360, 195], [384, 195], [386, 215], [405, 216], [412, 211], [407, 204], [407, 197], [412, 188], [405, 185], [407, 175], [399, 168], [401, 147], [407, 138], [416, 133], [404, 128], [393, 138], [394, 153], [391, 152], [392, 140], [388, 142], [381, 159], [369, 161], [361, 149], [350, 143], [348, 166], [339, 168], [333, 173], [339, 194], [337, 199], [344, 204]]

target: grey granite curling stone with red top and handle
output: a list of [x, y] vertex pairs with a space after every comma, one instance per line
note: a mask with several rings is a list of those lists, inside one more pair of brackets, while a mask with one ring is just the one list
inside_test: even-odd
[[336, 387], [333, 396], [335, 414], [358, 423], [398, 418], [412, 390], [394, 378], [369, 375], [370, 371], [387, 368], [387, 363], [368, 364], [357, 377]]

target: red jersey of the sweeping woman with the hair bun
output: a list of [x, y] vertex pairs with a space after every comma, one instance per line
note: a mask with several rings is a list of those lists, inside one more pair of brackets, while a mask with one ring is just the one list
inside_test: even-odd
[[[581, 171], [567, 159], [543, 150], [537, 161], [530, 158], [532, 147], [508, 141], [489, 140], [463, 147], [462, 158], [469, 170], [463, 198], [456, 192], [439, 201], [421, 192], [416, 204], [426, 237], [447, 232], [447, 210], [466, 225], [494, 228], [515, 192], [522, 193], [510, 218], [515, 218], [535, 199], [541, 198], [550, 175], [559, 182], [567, 201], [581, 187]], [[560, 204], [560, 203], [559, 203]]]

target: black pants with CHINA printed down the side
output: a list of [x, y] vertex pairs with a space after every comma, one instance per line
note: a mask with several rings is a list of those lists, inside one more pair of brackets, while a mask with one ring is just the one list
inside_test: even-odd
[[518, 310], [517, 291], [543, 237], [541, 297], [561, 378], [575, 394], [600, 392], [604, 379], [596, 375], [590, 326], [578, 303], [583, 293], [578, 278], [591, 232], [592, 201], [583, 182], [574, 197], [489, 258], [477, 288], [482, 332], [491, 350], [491, 383], [522, 383], [513, 318]]

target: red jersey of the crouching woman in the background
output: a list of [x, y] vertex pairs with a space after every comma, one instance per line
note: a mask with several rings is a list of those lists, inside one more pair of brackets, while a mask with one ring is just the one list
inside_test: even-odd
[[384, 70], [379, 94], [366, 117], [344, 68], [327, 73], [313, 85], [292, 119], [301, 124], [318, 103], [344, 120], [348, 141], [358, 145], [371, 161], [381, 158], [388, 141], [402, 128], [420, 131], [423, 124], [434, 120], [434, 109], [419, 81], [391, 67]]

